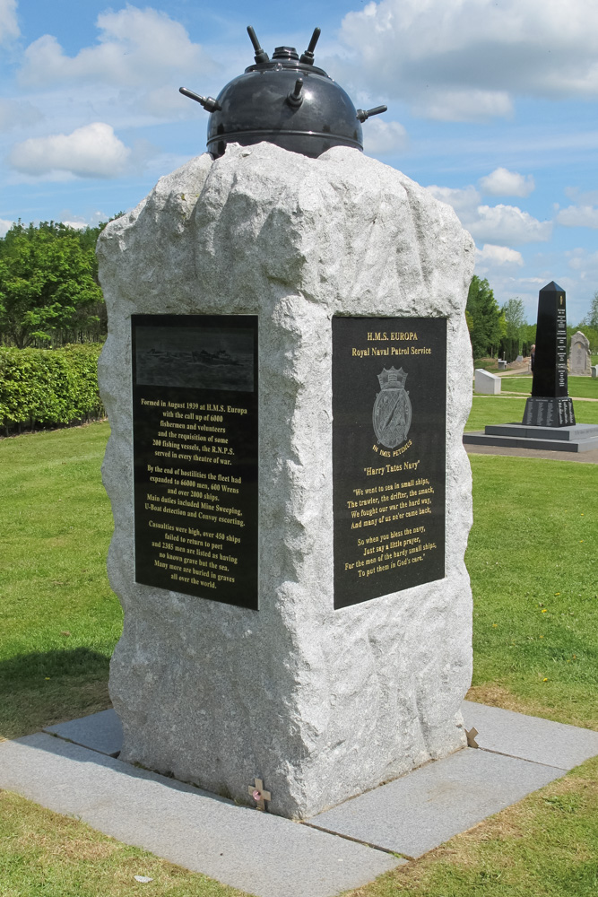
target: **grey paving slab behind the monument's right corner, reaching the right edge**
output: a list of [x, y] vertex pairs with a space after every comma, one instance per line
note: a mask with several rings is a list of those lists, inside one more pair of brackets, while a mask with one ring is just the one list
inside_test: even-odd
[[464, 701], [465, 727], [475, 727], [475, 740], [486, 751], [498, 751], [563, 770], [598, 755], [598, 732], [528, 717], [513, 710]]

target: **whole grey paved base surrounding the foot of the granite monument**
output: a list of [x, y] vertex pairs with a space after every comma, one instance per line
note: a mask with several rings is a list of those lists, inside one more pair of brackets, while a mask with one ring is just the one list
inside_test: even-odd
[[302, 824], [102, 755], [120, 746], [112, 710], [50, 727], [54, 737], [0, 744], [0, 788], [257, 897], [333, 897], [598, 754], [590, 729], [472, 701], [462, 712], [480, 750], [430, 762]]

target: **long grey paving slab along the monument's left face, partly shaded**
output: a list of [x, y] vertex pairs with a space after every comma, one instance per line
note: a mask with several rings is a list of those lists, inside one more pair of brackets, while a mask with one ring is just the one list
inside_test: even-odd
[[0, 744], [0, 788], [257, 897], [332, 897], [401, 863], [43, 733]]

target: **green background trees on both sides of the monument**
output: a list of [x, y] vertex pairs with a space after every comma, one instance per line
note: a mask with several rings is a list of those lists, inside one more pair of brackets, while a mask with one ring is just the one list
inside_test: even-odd
[[[54, 348], [101, 340], [107, 321], [95, 248], [107, 223], [82, 230], [60, 222], [13, 224], [0, 239], [0, 344]], [[513, 361], [535, 342], [535, 324], [525, 321], [523, 301], [509, 299], [499, 308], [490, 284], [477, 275], [465, 316], [476, 359], [504, 354]], [[598, 292], [589, 314], [568, 327], [568, 335], [577, 329], [598, 347]]]

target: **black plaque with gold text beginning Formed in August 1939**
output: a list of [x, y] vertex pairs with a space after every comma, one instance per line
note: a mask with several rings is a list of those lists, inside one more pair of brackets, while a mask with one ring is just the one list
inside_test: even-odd
[[257, 318], [131, 325], [135, 579], [257, 609]]

